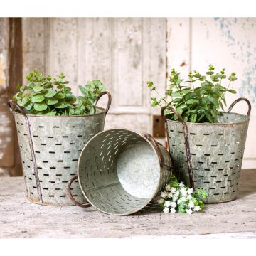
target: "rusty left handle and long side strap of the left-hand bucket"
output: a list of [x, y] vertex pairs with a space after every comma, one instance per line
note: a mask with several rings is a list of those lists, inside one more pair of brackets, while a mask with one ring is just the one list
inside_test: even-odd
[[36, 155], [35, 155], [35, 151], [33, 149], [33, 140], [32, 140], [32, 136], [31, 136], [31, 129], [30, 129], [28, 116], [24, 112], [23, 107], [19, 106], [18, 103], [15, 100], [9, 100], [7, 102], [7, 106], [9, 107], [9, 110], [11, 111], [12, 114], [14, 114], [14, 110], [15, 110], [12, 107], [12, 105], [14, 105], [21, 112], [23, 117], [25, 118], [26, 130], [27, 130], [27, 133], [28, 133], [28, 142], [29, 142], [29, 147], [30, 147], [30, 150], [31, 150], [31, 158], [32, 158], [32, 161], [33, 161], [33, 171], [34, 171], [35, 179], [36, 179], [36, 189], [37, 189], [37, 192], [38, 192], [38, 198], [40, 199], [41, 203], [43, 203], [43, 196], [42, 196], [42, 191], [41, 191], [41, 186], [40, 186], [40, 181], [39, 181], [39, 175], [38, 175], [38, 167], [36, 165]]

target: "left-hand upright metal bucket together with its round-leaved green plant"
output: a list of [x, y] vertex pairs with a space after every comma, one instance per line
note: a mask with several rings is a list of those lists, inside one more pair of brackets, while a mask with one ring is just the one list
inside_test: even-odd
[[[68, 181], [77, 174], [83, 146], [104, 129], [111, 95], [100, 80], [93, 80], [79, 86], [82, 96], [76, 97], [63, 73], [51, 78], [34, 70], [26, 79], [8, 106], [16, 122], [28, 199], [50, 206], [73, 205]], [[107, 108], [97, 107], [105, 94]], [[78, 183], [72, 193], [87, 203]]]

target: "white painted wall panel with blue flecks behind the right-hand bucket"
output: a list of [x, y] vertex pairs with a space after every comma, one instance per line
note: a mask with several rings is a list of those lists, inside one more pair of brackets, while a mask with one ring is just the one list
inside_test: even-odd
[[[194, 69], [206, 70], [209, 64], [215, 65], [216, 70], [226, 68], [226, 73], [237, 73], [238, 80], [232, 87], [238, 94], [227, 93], [227, 105], [238, 97], [247, 97], [252, 103], [242, 167], [255, 167], [256, 18], [168, 18], [167, 23], [169, 70], [180, 69], [179, 63], [189, 60], [186, 73]], [[184, 74], [183, 69], [181, 73]], [[240, 102], [233, 112], [245, 114], [247, 105]]]

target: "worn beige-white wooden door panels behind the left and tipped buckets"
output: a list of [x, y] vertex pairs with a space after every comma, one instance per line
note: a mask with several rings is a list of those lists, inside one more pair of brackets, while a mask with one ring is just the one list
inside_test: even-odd
[[[23, 21], [24, 72], [35, 66], [52, 75], [64, 72], [75, 94], [80, 94], [77, 85], [100, 79], [112, 93], [106, 128], [151, 132], [151, 112], [159, 114], [159, 110], [150, 106], [146, 81], [154, 80], [164, 92], [165, 18], [23, 18]], [[40, 41], [38, 46], [37, 41]], [[35, 55], [33, 61], [31, 53]], [[99, 104], [103, 106], [106, 102], [105, 98]]]

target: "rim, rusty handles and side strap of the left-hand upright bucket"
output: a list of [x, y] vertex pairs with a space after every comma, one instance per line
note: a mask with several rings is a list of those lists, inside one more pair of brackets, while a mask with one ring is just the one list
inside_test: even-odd
[[[96, 107], [97, 102], [105, 94], [108, 96], [107, 107], [106, 107], [105, 111], [97, 113], [97, 114], [105, 114], [106, 115], [108, 110], [110, 110], [112, 97], [111, 97], [110, 92], [107, 92], [107, 91], [101, 92], [97, 96], [93, 105], [94, 105], [94, 107]], [[16, 107], [15, 109], [13, 108], [13, 105]], [[73, 116], [69, 116], [69, 115], [65, 115], [65, 116], [46, 116], [46, 115], [26, 114], [26, 112], [24, 111], [24, 108], [19, 106], [18, 103], [15, 100], [9, 100], [7, 102], [7, 106], [9, 107], [9, 110], [12, 114], [23, 115], [23, 117], [25, 118], [26, 129], [27, 129], [27, 132], [28, 132], [28, 142], [29, 142], [29, 147], [30, 147], [30, 150], [31, 150], [31, 158], [32, 158], [32, 161], [33, 161], [33, 171], [34, 171], [34, 174], [35, 174], [36, 188], [37, 188], [37, 193], [38, 193], [38, 198], [39, 198], [38, 203], [43, 204], [43, 195], [42, 195], [39, 176], [38, 176], [38, 167], [37, 167], [37, 164], [36, 164], [36, 155], [35, 155], [35, 151], [33, 149], [32, 134], [31, 134], [30, 123], [29, 123], [28, 117], [35, 117], [35, 118], [36, 117], [53, 117], [53, 118], [56, 118], [56, 117], [88, 117], [88, 116], [97, 115], [97, 114], [84, 114], [84, 115], [73, 115]], [[97, 107], [97, 108], [104, 110], [101, 107]], [[18, 110], [19, 112], [17, 112], [16, 110]]]

